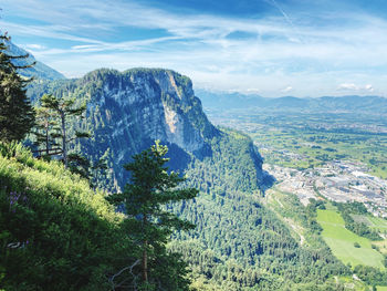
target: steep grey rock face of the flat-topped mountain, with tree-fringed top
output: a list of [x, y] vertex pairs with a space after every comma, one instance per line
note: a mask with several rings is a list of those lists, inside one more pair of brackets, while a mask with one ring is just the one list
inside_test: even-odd
[[80, 98], [88, 96], [87, 124], [94, 141], [82, 148], [94, 156], [113, 152], [118, 186], [125, 180], [122, 165], [155, 139], [170, 147], [171, 166], [181, 169], [192, 157], [210, 155], [208, 141], [219, 134], [202, 112], [191, 81], [172, 71], [98, 70], [79, 80], [71, 91]]

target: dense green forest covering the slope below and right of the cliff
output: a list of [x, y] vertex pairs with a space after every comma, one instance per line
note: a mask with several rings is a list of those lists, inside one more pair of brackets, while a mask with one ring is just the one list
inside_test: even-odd
[[259, 189], [260, 177], [251, 175], [254, 164], [245, 154], [249, 150], [247, 136], [222, 132], [212, 143], [212, 157], [195, 160], [187, 170], [187, 185], [201, 194], [174, 209], [197, 228], [189, 235], [176, 233], [179, 241], [171, 248], [190, 262], [196, 280], [230, 291], [285, 290], [303, 283], [315, 287], [332, 274], [347, 273], [326, 245], [300, 246], [261, 204], [263, 189]]

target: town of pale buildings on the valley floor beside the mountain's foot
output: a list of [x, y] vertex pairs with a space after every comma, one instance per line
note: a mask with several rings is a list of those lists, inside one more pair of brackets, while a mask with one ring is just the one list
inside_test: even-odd
[[368, 175], [368, 168], [362, 164], [334, 160], [305, 170], [265, 167], [275, 177], [280, 190], [295, 194], [304, 205], [311, 198], [322, 197], [337, 202], [358, 201], [374, 216], [387, 217], [387, 181]]

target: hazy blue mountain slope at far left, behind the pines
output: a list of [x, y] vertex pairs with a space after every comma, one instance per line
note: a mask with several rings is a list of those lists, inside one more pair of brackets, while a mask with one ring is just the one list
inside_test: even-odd
[[60, 72], [55, 71], [54, 69], [48, 66], [46, 64], [39, 62], [35, 60], [35, 58], [27, 52], [25, 50], [19, 48], [18, 45], [13, 44], [11, 41], [7, 41], [8, 52], [11, 55], [25, 55], [29, 54], [27, 59], [20, 59], [14, 61], [15, 65], [28, 65], [33, 62], [35, 62], [35, 65], [32, 67], [20, 70], [20, 74], [31, 77], [34, 76], [36, 79], [43, 79], [43, 80], [61, 80], [65, 79], [64, 75], [62, 75]]

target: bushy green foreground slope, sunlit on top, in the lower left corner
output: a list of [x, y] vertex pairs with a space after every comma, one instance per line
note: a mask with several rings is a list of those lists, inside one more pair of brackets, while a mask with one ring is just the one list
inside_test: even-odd
[[[0, 289], [136, 290], [138, 235], [86, 180], [0, 144]], [[149, 264], [164, 285], [185, 272], [165, 250]]]

